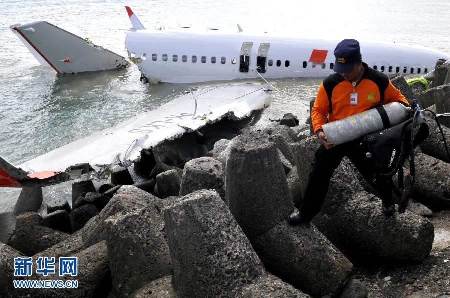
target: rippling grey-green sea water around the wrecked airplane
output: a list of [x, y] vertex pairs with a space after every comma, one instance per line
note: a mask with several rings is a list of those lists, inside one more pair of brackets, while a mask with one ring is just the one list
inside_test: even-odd
[[[195, 86], [145, 84], [135, 65], [58, 76], [40, 66], [9, 29], [17, 23], [46, 20], [126, 56], [125, 34], [131, 25], [125, 5], [146, 28], [213, 27], [236, 32], [240, 24], [250, 32], [396, 42], [450, 52], [450, 0], [2, 0], [0, 155], [21, 164], [154, 109]], [[274, 100], [259, 123], [286, 112], [304, 121], [320, 82], [320, 78], [270, 80], [291, 97], [273, 92]]]

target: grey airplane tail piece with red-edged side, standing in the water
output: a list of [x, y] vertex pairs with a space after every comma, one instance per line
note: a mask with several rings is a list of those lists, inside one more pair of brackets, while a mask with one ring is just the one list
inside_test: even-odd
[[77, 73], [126, 67], [128, 61], [46, 21], [9, 27], [40, 64], [57, 73]]

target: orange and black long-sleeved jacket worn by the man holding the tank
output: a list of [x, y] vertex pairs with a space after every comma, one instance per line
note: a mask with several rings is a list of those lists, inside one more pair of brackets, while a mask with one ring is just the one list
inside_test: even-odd
[[362, 63], [365, 71], [362, 79], [357, 82], [354, 92], [358, 94], [358, 103], [350, 105], [350, 94], [353, 93], [352, 82], [345, 80], [338, 73], [325, 78], [312, 107], [311, 119], [315, 133], [326, 123], [339, 120], [372, 108], [375, 104], [400, 101], [409, 106], [401, 92], [392, 85], [389, 78]]

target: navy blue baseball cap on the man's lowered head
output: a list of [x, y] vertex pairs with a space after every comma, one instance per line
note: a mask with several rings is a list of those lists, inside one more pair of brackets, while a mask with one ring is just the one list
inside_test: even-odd
[[359, 42], [354, 39], [344, 39], [339, 42], [334, 50], [336, 62], [334, 63], [334, 72], [349, 72], [354, 64], [361, 59]]

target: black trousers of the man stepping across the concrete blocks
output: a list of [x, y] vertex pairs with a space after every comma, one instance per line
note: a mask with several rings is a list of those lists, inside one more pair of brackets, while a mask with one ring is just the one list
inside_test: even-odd
[[317, 149], [303, 196], [303, 205], [300, 206], [303, 219], [309, 221], [320, 212], [333, 172], [344, 156], [350, 159], [364, 179], [375, 188], [384, 204], [393, 204], [392, 184], [387, 179], [374, 179], [375, 175], [369, 159], [365, 157], [365, 152], [359, 144], [360, 139], [337, 145], [331, 149], [320, 145]]

